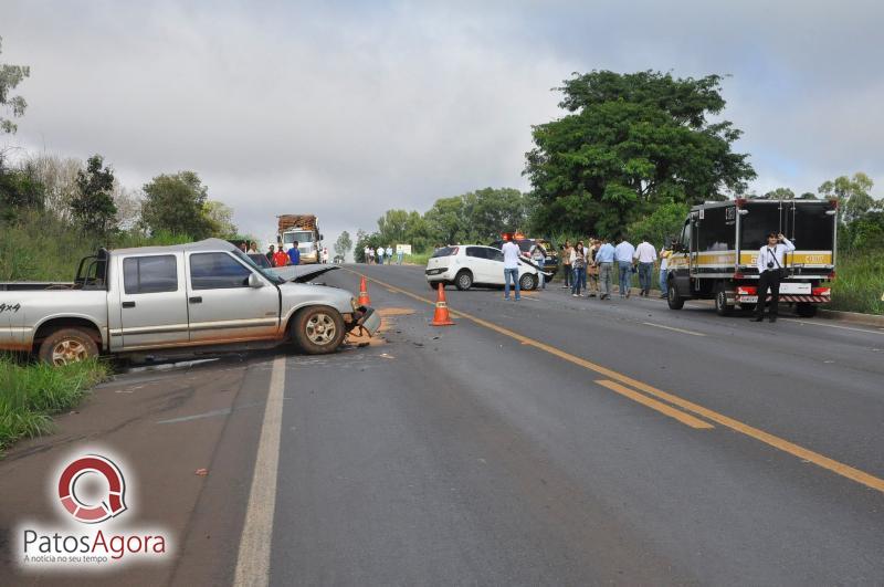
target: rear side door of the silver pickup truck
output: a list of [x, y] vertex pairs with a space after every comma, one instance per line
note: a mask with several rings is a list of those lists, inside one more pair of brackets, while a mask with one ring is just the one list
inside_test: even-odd
[[110, 331], [110, 347], [131, 350], [187, 343], [180, 254], [133, 254], [117, 262], [120, 328]]

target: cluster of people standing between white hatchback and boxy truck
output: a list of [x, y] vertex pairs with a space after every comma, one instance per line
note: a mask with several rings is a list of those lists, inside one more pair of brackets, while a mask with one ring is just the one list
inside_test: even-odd
[[634, 247], [625, 238], [620, 238], [614, 247], [608, 239], [589, 239], [589, 245], [577, 241], [571, 245], [565, 241], [561, 251], [562, 266], [565, 269], [565, 284], [562, 290], [570, 289], [575, 297], [598, 296], [600, 300], [610, 300], [613, 283], [619, 282], [620, 297], [629, 297], [632, 289], [632, 274], [639, 274], [639, 295], [651, 295], [653, 272], [656, 261], [660, 260], [657, 282], [660, 297], [666, 297], [666, 274], [669, 256], [672, 245], [664, 245], [657, 251], [648, 239], [642, 239]]

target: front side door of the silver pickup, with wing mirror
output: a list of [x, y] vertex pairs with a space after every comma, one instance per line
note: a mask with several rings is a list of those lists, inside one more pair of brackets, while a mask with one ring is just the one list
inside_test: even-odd
[[[280, 291], [229, 252], [188, 252], [191, 343], [222, 344], [280, 336]], [[250, 276], [261, 287], [249, 285]]]

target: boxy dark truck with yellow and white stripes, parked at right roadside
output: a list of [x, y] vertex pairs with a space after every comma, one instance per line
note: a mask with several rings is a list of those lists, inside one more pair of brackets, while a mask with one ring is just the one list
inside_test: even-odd
[[[780, 302], [799, 316], [817, 314], [831, 301], [835, 279], [838, 201], [736, 199], [694, 206], [669, 262], [667, 302], [681, 310], [685, 300], [715, 300], [720, 316], [735, 306], [758, 303], [758, 251], [770, 232], [796, 247], [786, 254]], [[767, 296], [770, 300], [770, 295]]]

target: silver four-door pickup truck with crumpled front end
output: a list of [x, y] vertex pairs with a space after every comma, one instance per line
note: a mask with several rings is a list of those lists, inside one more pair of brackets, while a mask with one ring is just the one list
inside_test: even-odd
[[[262, 270], [232, 244], [99, 249], [73, 283], [0, 283], [0, 350], [63, 365], [108, 355], [192, 355], [292, 340], [336, 350], [347, 332], [375, 334], [380, 318], [349, 292]], [[158, 353], [161, 350], [161, 353]]]

